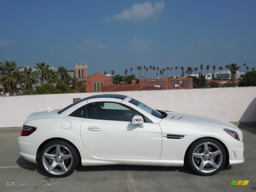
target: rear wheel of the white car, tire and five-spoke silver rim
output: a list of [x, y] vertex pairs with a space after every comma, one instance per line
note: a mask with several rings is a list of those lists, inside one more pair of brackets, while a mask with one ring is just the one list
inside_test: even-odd
[[71, 175], [78, 165], [78, 154], [75, 148], [61, 140], [47, 143], [39, 156], [40, 166], [50, 177]]

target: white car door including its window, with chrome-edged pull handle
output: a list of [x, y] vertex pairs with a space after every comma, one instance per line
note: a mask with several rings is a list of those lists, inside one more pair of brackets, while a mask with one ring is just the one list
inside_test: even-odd
[[162, 132], [158, 123], [132, 124], [133, 108], [117, 102], [86, 105], [87, 118], [80, 132], [87, 150], [105, 158], [160, 159]]

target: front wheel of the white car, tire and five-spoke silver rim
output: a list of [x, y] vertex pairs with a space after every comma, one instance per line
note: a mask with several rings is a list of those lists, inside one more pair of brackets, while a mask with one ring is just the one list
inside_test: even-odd
[[196, 174], [210, 176], [225, 166], [226, 158], [226, 151], [220, 142], [203, 138], [189, 146], [185, 161]]

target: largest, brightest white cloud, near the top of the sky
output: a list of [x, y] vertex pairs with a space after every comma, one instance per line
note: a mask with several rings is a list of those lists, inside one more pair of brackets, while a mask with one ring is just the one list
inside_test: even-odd
[[157, 14], [164, 9], [164, 1], [159, 1], [152, 5], [150, 1], [145, 3], [137, 3], [131, 9], [124, 9], [122, 13], [114, 15], [111, 18], [105, 18], [105, 21], [111, 20], [135, 20], [143, 21], [148, 18], [156, 18]]

